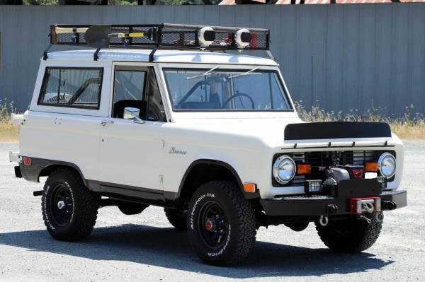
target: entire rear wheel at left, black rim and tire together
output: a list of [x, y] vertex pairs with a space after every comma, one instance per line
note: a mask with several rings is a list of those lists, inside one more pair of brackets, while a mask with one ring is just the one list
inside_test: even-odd
[[42, 218], [47, 231], [57, 240], [84, 239], [96, 223], [99, 199], [84, 186], [79, 173], [53, 171], [42, 193]]

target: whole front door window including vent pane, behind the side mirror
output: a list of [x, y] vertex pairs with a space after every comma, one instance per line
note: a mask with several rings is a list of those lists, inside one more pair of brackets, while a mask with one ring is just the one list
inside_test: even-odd
[[141, 119], [166, 122], [153, 68], [117, 66], [113, 88], [113, 117], [123, 119], [126, 107], [136, 108]]

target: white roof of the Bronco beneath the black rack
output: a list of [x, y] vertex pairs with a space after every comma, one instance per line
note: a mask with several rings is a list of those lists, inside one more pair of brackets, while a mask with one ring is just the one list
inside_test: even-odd
[[[95, 50], [60, 51], [47, 54], [48, 59], [93, 59]], [[99, 60], [108, 61], [149, 61], [150, 49], [101, 49], [98, 53]], [[225, 52], [209, 51], [179, 51], [157, 50], [154, 61], [160, 63], [205, 63], [205, 64], [258, 64], [277, 66], [276, 61], [262, 57]]]

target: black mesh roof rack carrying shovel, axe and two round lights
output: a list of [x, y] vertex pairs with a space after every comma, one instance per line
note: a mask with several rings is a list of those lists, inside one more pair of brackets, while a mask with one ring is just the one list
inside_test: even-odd
[[[265, 50], [270, 45], [270, 31], [261, 28], [236, 28], [206, 25], [50, 25], [50, 45], [91, 46], [94, 59], [102, 48], [123, 47], [152, 49]], [[271, 56], [270, 52], [268, 54]], [[271, 56], [273, 59], [273, 56]]]

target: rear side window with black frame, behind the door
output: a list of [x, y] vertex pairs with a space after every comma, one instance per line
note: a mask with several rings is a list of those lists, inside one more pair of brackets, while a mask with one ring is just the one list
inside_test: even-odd
[[98, 110], [102, 68], [47, 67], [38, 105]]

